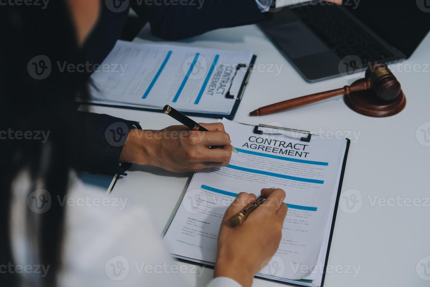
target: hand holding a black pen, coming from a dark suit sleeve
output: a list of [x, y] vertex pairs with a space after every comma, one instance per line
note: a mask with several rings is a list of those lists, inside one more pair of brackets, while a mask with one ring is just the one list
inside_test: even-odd
[[233, 147], [224, 125], [200, 125], [209, 131], [194, 131], [186, 126], [170, 126], [164, 130], [130, 130], [120, 160], [149, 164], [173, 172], [226, 166]]

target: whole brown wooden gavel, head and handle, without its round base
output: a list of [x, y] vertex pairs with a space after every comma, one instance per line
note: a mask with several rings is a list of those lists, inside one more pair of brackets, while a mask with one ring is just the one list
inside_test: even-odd
[[251, 116], [262, 116], [265, 114], [273, 114], [279, 111], [286, 111], [292, 108], [298, 108], [303, 105], [308, 105], [314, 102], [319, 102], [325, 99], [339, 95], [348, 95], [349, 93], [365, 90], [373, 90], [376, 100], [381, 102], [389, 102], [396, 99], [401, 92], [399, 81], [394, 77], [393, 73], [384, 63], [374, 63], [367, 68], [365, 78], [351, 86], [344, 86], [340, 89], [334, 89], [327, 92], [316, 93], [312, 95], [302, 96], [295, 99], [286, 100], [272, 105], [261, 107], [249, 113]]

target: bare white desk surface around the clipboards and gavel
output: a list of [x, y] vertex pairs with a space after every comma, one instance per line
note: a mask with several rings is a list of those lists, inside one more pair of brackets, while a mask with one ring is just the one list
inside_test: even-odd
[[[159, 42], [149, 34], [148, 27], [138, 37], [145, 40], [136, 41]], [[320, 129], [325, 132], [341, 131], [344, 136], [348, 136], [350, 131], [359, 134], [358, 140], [357, 137], [349, 136], [352, 143], [342, 192], [348, 195], [355, 192], [360, 202], [353, 208], [354, 213], [346, 213], [343, 211], [347, 210], [346, 199], [341, 198], [342, 208], [337, 212], [329, 265], [341, 265], [344, 270], [348, 265], [355, 265], [360, 269], [356, 277], [349, 272], [326, 274], [324, 286], [430, 285], [430, 281], [418, 276], [420, 270], [421, 273], [423, 270], [422, 262], [419, 261], [430, 256], [430, 202], [424, 204], [426, 198], [430, 197], [430, 147], [425, 146], [430, 145], [430, 142], [426, 142], [426, 139], [430, 141], [430, 129], [425, 134], [421, 131], [430, 127], [430, 34], [412, 57], [402, 62], [418, 64], [422, 71], [418, 72], [417, 68], [415, 72], [400, 69], [407, 70], [407, 66], [393, 71], [402, 84], [407, 104], [401, 113], [385, 118], [357, 114], [347, 108], [341, 96], [283, 113], [250, 117], [249, 112], [255, 108], [339, 88], [353, 80], [338, 77], [319, 83], [306, 83], [255, 25], [220, 29], [179, 43], [212, 48], [251, 49], [258, 55], [256, 65], [283, 65], [277, 76], [275, 73], [258, 71], [251, 75], [234, 120], [251, 124], [280, 123], [283, 127], [316, 132]], [[177, 124], [172, 118], [157, 112], [101, 106], [92, 106], [92, 111], [137, 120], [144, 129], [162, 129]], [[207, 118], [194, 119], [206, 123], [213, 121]], [[427, 125], [418, 130], [423, 123]], [[118, 180], [113, 192], [123, 196], [130, 194], [141, 201], [142, 206], [157, 215], [159, 228], [164, 232], [189, 179], [189, 173], [175, 174], [154, 167], [134, 165], [128, 176]], [[359, 194], [350, 189], [358, 190]], [[286, 193], [288, 196], [288, 190]], [[378, 202], [373, 204], [374, 196], [387, 200], [397, 196], [411, 200], [419, 198], [421, 206], [402, 206], [402, 203], [408, 204], [407, 200], [401, 200], [400, 204], [395, 202], [394, 206], [383, 206]], [[389, 200], [389, 203], [393, 205], [393, 200]], [[424, 261], [427, 264], [430, 259]], [[200, 278], [196, 274], [186, 276], [191, 286], [204, 286], [212, 275], [212, 269], [205, 268]], [[277, 284], [254, 279], [254, 286]]]

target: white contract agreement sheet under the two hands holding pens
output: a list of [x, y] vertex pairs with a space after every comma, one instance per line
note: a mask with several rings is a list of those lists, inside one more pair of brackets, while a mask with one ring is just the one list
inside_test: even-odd
[[194, 174], [163, 241], [179, 259], [213, 265], [221, 219], [237, 194], [258, 197], [261, 188], [282, 188], [288, 206], [282, 240], [257, 276], [322, 286], [349, 140], [312, 136], [304, 142], [222, 123], [238, 153], [226, 167]]

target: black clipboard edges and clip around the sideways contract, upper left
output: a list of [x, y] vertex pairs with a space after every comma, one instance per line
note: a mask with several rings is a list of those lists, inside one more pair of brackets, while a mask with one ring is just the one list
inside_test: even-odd
[[[251, 62], [249, 62], [248, 69], [246, 70], [245, 77], [243, 77], [242, 84], [240, 86], [239, 92], [237, 95], [232, 95], [230, 93], [230, 89], [227, 91], [226, 97], [231, 99], [236, 99], [236, 102], [233, 105], [233, 109], [231, 110], [230, 114], [207, 114], [207, 113], [197, 113], [197, 112], [186, 112], [181, 111], [178, 109], [178, 111], [181, 111], [183, 114], [186, 114], [187, 116], [192, 117], [209, 117], [209, 118], [215, 118], [215, 119], [222, 119], [223, 117], [233, 120], [234, 116], [236, 115], [237, 108], [239, 108], [240, 101], [243, 98], [243, 94], [245, 93], [246, 86], [248, 85], [249, 77], [251, 76], [251, 70], [254, 68], [255, 59], [257, 59], [257, 55], [252, 55]], [[231, 85], [230, 85], [231, 88]], [[152, 109], [152, 108], [141, 108], [138, 105], [121, 105], [121, 104], [109, 104], [109, 103], [100, 103], [100, 102], [80, 102], [79, 99], [77, 99], [77, 102], [80, 104], [85, 105], [98, 105], [98, 106], [106, 106], [106, 107], [113, 107], [113, 108], [128, 108], [132, 110], [140, 110], [140, 111], [156, 111], [156, 112], [163, 112], [163, 108], [160, 109]]]

